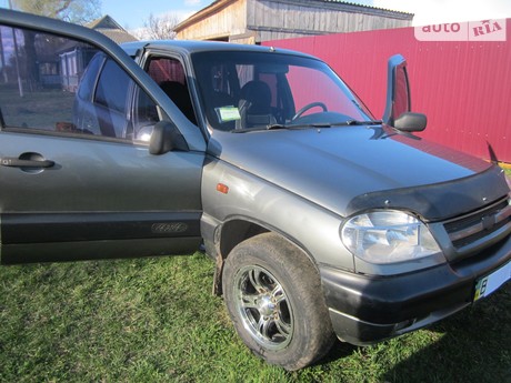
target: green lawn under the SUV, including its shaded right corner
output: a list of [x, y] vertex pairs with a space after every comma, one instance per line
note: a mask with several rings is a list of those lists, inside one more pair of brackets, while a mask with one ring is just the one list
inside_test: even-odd
[[0, 268], [0, 382], [510, 382], [511, 286], [288, 373], [244, 347], [202, 254]]

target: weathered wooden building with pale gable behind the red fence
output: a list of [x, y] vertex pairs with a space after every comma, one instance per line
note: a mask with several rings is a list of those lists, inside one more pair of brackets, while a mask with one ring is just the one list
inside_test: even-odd
[[179, 23], [181, 40], [260, 43], [410, 27], [413, 14], [337, 0], [217, 0]]

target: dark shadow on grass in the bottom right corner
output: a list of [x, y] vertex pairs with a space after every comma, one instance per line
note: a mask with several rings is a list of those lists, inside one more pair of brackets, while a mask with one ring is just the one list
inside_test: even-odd
[[397, 363], [382, 382], [511, 382], [511, 286], [430, 327], [440, 340]]

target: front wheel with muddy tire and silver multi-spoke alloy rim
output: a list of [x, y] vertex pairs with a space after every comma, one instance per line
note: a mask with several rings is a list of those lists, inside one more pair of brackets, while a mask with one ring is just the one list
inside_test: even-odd
[[298, 370], [330, 350], [334, 336], [319, 274], [287, 240], [267, 233], [240, 243], [222, 282], [234, 327], [258, 356]]

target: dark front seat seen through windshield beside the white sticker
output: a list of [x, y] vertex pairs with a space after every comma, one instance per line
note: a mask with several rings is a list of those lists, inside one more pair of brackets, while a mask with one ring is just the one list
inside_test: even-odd
[[237, 129], [277, 123], [271, 113], [270, 87], [263, 81], [249, 81], [241, 88], [238, 109], [241, 119], [237, 121]]

